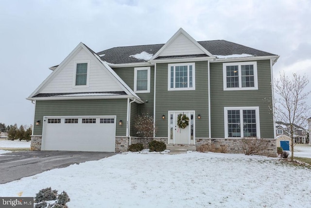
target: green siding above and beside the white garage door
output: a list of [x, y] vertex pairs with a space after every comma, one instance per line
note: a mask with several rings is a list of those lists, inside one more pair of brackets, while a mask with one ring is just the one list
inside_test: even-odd
[[[34, 135], [42, 135], [43, 116], [116, 115], [116, 135], [126, 135], [127, 99], [37, 100]], [[35, 122], [40, 120], [40, 125]], [[119, 121], [123, 125], [119, 126]]]

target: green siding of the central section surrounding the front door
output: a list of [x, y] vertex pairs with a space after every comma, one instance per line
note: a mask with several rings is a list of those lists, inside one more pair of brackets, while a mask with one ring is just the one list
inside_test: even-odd
[[[168, 136], [168, 111], [195, 111], [195, 136], [208, 137], [207, 61], [195, 62], [195, 90], [181, 91], [168, 91], [168, 64], [156, 64], [155, 99], [155, 136]], [[198, 114], [201, 119], [197, 118]]]

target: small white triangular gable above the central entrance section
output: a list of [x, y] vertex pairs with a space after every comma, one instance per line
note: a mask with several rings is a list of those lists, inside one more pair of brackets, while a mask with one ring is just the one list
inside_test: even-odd
[[150, 60], [160, 57], [189, 57], [193, 55], [214, 58], [202, 45], [180, 28]]

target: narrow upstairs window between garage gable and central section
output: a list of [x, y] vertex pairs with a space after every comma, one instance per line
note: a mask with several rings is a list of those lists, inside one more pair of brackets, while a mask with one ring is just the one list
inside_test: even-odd
[[134, 92], [150, 93], [150, 67], [135, 67], [134, 73]]

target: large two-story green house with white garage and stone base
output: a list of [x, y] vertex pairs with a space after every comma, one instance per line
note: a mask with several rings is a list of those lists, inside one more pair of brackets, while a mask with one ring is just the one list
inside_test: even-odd
[[165, 44], [95, 53], [79, 43], [27, 98], [35, 103], [31, 149], [127, 151], [146, 140], [134, 124], [148, 113], [157, 129], [148, 140], [242, 153], [242, 138], [258, 137], [274, 155], [273, 101], [263, 100], [273, 97], [278, 57], [226, 40], [196, 41], [182, 28]]

